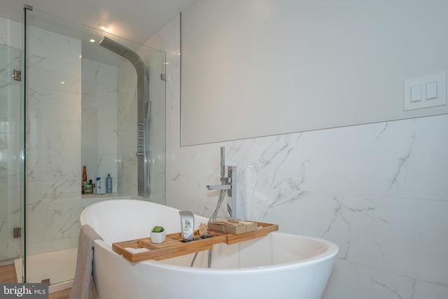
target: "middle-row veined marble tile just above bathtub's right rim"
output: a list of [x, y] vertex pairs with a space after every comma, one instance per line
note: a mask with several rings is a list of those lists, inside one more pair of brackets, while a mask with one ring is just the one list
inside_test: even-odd
[[329, 239], [339, 259], [448, 286], [447, 201], [264, 188], [246, 201], [250, 218]]

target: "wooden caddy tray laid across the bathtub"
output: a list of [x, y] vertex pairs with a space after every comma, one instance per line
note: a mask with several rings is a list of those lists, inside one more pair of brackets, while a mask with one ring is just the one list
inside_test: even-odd
[[[165, 242], [153, 243], [151, 238], [133, 239], [130, 241], [117, 242], [112, 244], [112, 249], [116, 253], [123, 255], [123, 258], [130, 260], [132, 263], [141, 262], [142, 260], [165, 260], [176, 256], [184, 256], [186, 254], [212, 249], [214, 244], [235, 244], [244, 242], [249, 239], [264, 237], [269, 232], [279, 230], [279, 225], [257, 222], [258, 230], [253, 232], [244, 232], [239, 235], [233, 235], [227, 232], [219, 232], [217, 230], [208, 230], [208, 234], [212, 237], [207, 239], [198, 239], [192, 242], [182, 242], [180, 232], [167, 235]], [[260, 228], [261, 226], [261, 228]], [[195, 237], [199, 237], [199, 232], [195, 230]], [[126, 248], [141, 249], [145, 248], [149, 251], [132, 253]]]

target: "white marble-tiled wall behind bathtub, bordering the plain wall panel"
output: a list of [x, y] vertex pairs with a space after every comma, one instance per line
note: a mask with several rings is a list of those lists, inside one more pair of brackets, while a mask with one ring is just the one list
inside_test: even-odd
[[225, 146], [239, 217], [339, 246], [324, 299], [447, 298], [448, 116], [181, 147], [179, 24], [148, 42], [171, 77], [167, 205], [210, 216]]

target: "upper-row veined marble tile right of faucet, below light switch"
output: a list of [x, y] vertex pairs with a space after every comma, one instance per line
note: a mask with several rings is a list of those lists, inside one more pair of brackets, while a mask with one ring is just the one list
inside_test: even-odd
[[[428, 122], [419, 118], [265, 137], [255, 186], [447, 200], [448, 185], [442, 181], [448, 176], [443, 154], [448, 129], [427, 134]], [[437, 118], [437, 125], [448, 127], [448, 117]]]

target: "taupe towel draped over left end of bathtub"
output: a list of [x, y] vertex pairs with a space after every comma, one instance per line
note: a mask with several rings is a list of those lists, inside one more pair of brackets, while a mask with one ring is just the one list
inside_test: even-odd
[[88, 299], [90, 279], [92, 279], [93, 242], [103, 239], [90, 225], [81, 226], [78, 240], [76, 272], [69, 299]]

